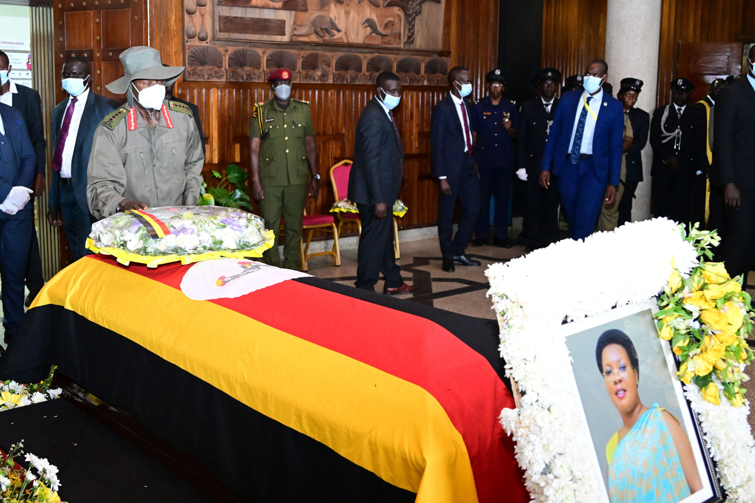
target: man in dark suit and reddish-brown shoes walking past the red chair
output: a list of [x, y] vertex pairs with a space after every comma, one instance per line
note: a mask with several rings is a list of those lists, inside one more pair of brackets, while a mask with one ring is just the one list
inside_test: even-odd
[[349, 175], [348, 198], [356, 203], [362, 220], [359, 258], [354, 286], [374, 291], [380, 273], [383, 293], [411, 293], [401, 279], [393, 253], [393, 204], [399, 197], [404, 175], [404, 146], [393, 109], [401, 99], [401, 79], [382, 72], [375, 81], [375, 97], [356, 123], [354, 164]]

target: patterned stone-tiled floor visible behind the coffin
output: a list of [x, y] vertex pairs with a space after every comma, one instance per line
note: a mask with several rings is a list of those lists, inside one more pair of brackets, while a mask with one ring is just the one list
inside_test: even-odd
[[[421, 302], [436, 308], [447, 309], [470, 316], [495, 318], [491, 302], [485, 297], [488, 281], [485, 269], [495, 262], [513, 259], [524, 253], [524, 247], [506, 250], [500, 247], [467, 247], [467, 256], [482, 262], [480, 267], [456, 266], [455, 272], [441, 268], [438, 240], [424, 239], [401, 244], [402, 277], [408, 284], [419, 287], [418, 292], [402, 295], [407, 302]], [[310, 259], [310, 275], [338, 283], [353, 285], [356, 280], [356, 250], [341, 252], [341, 266], [335, 267], [329, 256]], [[383, 281], [375, 285], [375, 291], [383, 291]]]

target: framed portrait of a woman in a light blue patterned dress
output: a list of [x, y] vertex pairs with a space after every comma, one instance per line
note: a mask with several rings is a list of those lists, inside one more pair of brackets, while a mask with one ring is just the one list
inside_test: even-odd
[[718, 503], [723, 491], [656, 310], [651, 301], [562, 325], [604, 501]]

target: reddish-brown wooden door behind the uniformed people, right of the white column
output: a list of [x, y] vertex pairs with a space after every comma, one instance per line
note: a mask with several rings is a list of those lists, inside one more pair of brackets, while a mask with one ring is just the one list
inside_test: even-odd
[[692, 103], [702, 100], [710, 82], [742, 69], [741, 42], [681, 42], [675, 78], [689, 78], [695, 84]]

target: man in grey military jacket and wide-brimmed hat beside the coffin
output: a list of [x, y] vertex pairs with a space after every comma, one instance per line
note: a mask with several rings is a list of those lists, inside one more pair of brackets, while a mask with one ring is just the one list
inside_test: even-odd
[[156, 49], [123, 51], [125, 75], [107, 84], [128, 103], [107, 115], [94, 133], [87, 168], [89, 211], [103, 219], [123, 210], [193, 206], [199, 200], [205, 154], [183, 103], [165, 100], [165, 81], [183, 66], [162, 66]]

